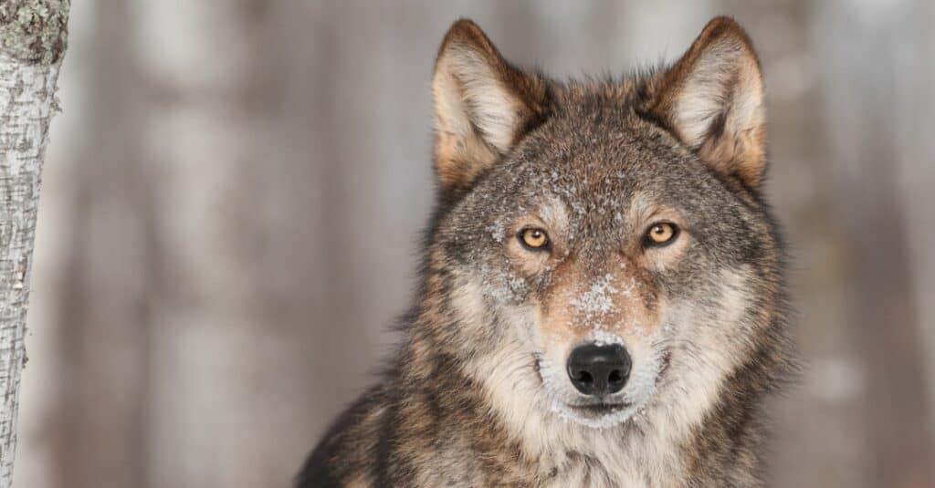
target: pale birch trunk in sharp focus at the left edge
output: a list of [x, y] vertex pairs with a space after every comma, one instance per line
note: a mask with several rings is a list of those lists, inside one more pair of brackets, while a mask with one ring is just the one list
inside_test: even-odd
[[12, 485], [36, 208], [68, 0], [0, 4], [0, 488]]

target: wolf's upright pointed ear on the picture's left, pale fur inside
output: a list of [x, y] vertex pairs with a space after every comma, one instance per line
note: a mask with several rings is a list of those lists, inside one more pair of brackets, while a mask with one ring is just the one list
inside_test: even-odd
[[442, 190], [467, 190], [544, 113], [546, 85], [509, 65], [474, 22], [454, 22], [432, 77], [435, 169]]

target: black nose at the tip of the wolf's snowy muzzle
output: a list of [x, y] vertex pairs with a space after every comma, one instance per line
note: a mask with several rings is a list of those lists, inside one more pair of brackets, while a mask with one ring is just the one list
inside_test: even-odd
[[615, 394], [629, 377], [630, 355], [620, 344], [584, 344], [568, 356], [568, 378], [584, 395]]

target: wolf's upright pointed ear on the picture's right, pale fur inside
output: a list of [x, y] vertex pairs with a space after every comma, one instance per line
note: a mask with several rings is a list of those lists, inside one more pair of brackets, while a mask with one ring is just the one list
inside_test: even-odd
[[766, 169], [763, 75], [737, 22], [708, 22], [654, 88], [656, 118], [714, 169], [759, 187]]

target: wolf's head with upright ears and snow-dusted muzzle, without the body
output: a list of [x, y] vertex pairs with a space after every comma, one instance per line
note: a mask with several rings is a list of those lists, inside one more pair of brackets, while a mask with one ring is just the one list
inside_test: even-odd
[[432, 81], [439, 212], [415, 335], [508, 423], [689, 424], [755, 393], [742, 375], [768, 388], [784, 291], [763, 93], [727, 18], [669, 68], [583, 82], [517, 68], [455, 22]]

